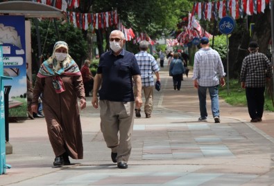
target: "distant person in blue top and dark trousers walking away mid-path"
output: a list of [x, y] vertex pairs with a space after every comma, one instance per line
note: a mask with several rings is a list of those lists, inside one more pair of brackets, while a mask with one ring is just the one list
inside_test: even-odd
[[180, 91], [182, 84], [182, 74], [185, 73], [185, 67], [182, 60], [179, 58], [179, 53], [174, 53], [173, 60], [169, 66], [169, 72], [173, 79], [174, 90]]

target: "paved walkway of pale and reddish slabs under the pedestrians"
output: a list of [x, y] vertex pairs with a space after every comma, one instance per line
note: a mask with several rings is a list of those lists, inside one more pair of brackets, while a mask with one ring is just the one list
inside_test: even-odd
[[[191, 75], [174, 91], [166, 67], [155, 91], [152, 117], [135, 119], [128, 169], [117, 169], [100, 131], [99, 110], [81, 111], [84, 159], [53, 168], [44, 118], [10, 123], [12, 165], [0, 185], [274, 185], [274, 113], [250, 123], [245, 107], [221, 100], [221, 123], [198, 122], [198, 95]], [[209, 104], [210, 101], [208, 101]]]

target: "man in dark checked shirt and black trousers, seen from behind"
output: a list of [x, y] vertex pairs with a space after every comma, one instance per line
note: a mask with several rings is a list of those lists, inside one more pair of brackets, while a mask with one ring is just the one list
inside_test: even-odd
[[264, 89], [271, 80], [272, 64], [263, 53], [258, 53], [259, 45], [251, 41], [250, 54], [243, 59], [241, 66], [241, 88], [246, 89], [250, 122], [262, 122], [264, 113]]

